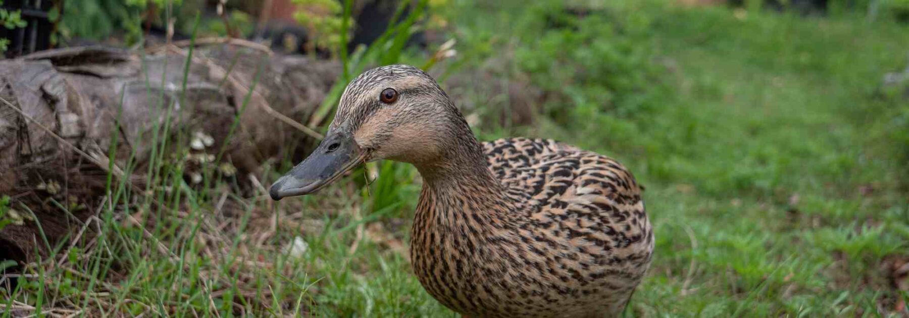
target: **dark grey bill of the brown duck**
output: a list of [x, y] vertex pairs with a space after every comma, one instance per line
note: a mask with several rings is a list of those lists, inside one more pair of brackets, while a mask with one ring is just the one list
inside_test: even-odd
[[356, 144], [353, 134], [338, 129], [329, 132], [312, 154], [275, 181], [268, 192], [275, 201], [288, 196], [312, 194], [364, 161], [365, 154]]

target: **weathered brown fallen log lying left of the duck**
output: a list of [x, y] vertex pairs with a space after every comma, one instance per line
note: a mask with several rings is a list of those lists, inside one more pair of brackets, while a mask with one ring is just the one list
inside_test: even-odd
[[0, 198], [19, 214], [0, 229], [0, 260], [29, 260], [45, 252], [41, 232], [53, 244], [84, 223], [108, 174], [142, 188], [165, 125], [168, 138], [201, 136], [199, 154], [224, 146], [236, 175], [260, 174], [286, 144], [300, 144], [300, 157], [320, 137], [299, 123], [322, 103], [338, 63], [229, 42], [189, 56], [174, 45], [148, 54], [75, 47], [0, 61]]

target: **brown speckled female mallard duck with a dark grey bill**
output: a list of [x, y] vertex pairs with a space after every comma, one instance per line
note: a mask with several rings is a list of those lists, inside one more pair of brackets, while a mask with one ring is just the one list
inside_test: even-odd
[[348, 84], [325, 140], [271, 196], [314, 193], [378, 159], [423, 175], [414, 272], [457, 313], [617, 316], [650, 265], [654, 234], [621, 164], [551, 140], [479, 143], [435, 80], [408, 65]]

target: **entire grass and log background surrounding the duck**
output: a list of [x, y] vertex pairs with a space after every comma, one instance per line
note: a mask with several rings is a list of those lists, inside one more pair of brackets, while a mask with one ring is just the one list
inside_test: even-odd
[[[5, 316], [454, 316], [411, 273], [412, 166], [368, 164], [280, 203], [264, 192], [317, 144], [347, 81], [397, 63], [434, 75], [481, 140], [553, 138], [629, 167], [656, 252], [626, 316], [909, 316], [909, 1], [2, 5], [0, 97], [18, 98], [0, 104]], [[100, 154], [91, 167], [21, 156], [11, 132], [44, 132], [41, 118], [66, 137], [63, 97], [38, 94], [57, 105], [42, 113], [16, 93], [27, 61], [64, 74], [69, 96], [110, 85], [79, 99], [108, 103], [106, 124], [85, 121], [97, 134], [47, 137]], [[110, 84], [128, 76], [141, 98]], [[226, 117], [186, 97], [200, 85], [232, 94]]]

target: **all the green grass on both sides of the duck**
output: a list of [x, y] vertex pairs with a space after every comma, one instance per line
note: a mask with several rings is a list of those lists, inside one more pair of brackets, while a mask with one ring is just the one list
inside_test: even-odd
[[[508, 98], [458, 87], [460, 101], [484, 102], [471, 111], [484, 114], [477, 134], [577, 144], [646, 186], [656, 254], [626, 315], [888, 316], [909, 301], [883, 269], [909, 258], [909, 101], [881, 87], [909, 63], [909, 26], [647, 2], [556, 16], [547, 28], [559, 5], [471, 5], [452, 4], [459, 56], [440, 63], [445, 77], [483, 70], [545, 93], [536, 124], [503, 127], [492, 116]], [[351, 72], [423, 61], [389, 43], [393, 56], [352, 53]], [[190, 187], [161, 161], [155, 197], [114, 179], [115, 204], [85, 224], [101, 235], [26, 265], [29, 276], [10, 278], [15, 290], [0, 289], [5, 306], [454, 316], [406, 258], [413, 168], [379, 164], [368, 189], [358, 171], [274, 203], [220, 182]], [[145, 204], [122, 204], [131, 200]], [[295, 240], [305, 253], [286, 248]]]

